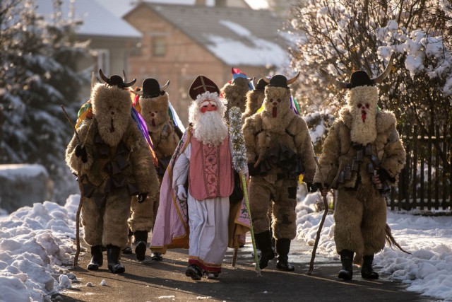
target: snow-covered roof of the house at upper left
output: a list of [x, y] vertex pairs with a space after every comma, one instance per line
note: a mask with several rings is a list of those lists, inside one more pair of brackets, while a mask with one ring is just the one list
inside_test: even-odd
[[[73, 18], [83, 21], [76, 28], [78, 35], [99, 36], [99, 37], [121, 37], [139, 39], [142, 34], [133, 28], [132, 25], [114, 15], [104, 6], [93, 0], [74, 0], [71, 4], [69, 0], [62, 0], [62, 17], [64, 19]], [[36, 0], [37, 13], [40, 13], [49, 21], [52, 21], [54, 13], [53, 1]], [[74, 7], [74, 16], [70, 16], [71, 5]]]

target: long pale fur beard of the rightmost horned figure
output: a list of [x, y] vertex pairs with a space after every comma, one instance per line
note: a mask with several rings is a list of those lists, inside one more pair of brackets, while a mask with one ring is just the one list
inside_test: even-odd
[[352, 110], [350, 138], [358, 144], [367, 145], [376, 139], [376, 112], [367, 109], [366, 122], [362, 122], [361, 110]]

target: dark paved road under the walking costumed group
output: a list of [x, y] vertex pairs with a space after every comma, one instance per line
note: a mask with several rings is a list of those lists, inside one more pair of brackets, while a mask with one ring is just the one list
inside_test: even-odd
[[[251, 257], [251, 243], [239, 250], [236, 267], [232, 267], [232, 250], [227, 250], [219, 279], [193, 281], [186, 277], [187, 250], [169, 250], [162, 262], [137, 262], [134, 255], [123, 255], [124, 274], [108, 271], [104, 265], [97, 272], [85, 269], [89, 254], [81, 254], [80, 266], [71, 269], [77, 280], [73, 288], [52, 297], [52, 301], [435, 301], [405, 291], [403, 284], [381, 276], [369, 281], [361, 278], [355, 267], [352, 281], [341, 281], [337, 274], [340, 262], [316, 257], [314, 272], [307, 274], [311, 247], [299, 240], [292, 241], [289, 260], [295, 272], [281, 272], [275, 260], [269, 262], [258, 277]], [[294, 262], [295, 260], [295, 262]], [[107, 285], [100, 285], [105, 280]], [[87, 286], [87, 284], [93, 286]]]

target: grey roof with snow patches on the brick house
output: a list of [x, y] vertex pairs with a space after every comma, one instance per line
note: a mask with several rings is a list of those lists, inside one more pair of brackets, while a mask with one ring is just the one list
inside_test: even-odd
[[143, 5], [206, 47], [225, 64], [284, 66], [289, 62], [288, 41], [280, 33], [283, 21], [270, 11], [174, 4]]

